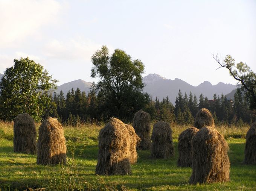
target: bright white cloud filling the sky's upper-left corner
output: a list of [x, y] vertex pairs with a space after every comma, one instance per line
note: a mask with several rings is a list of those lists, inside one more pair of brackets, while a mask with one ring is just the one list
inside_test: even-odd
[[57, 21], [61, 4], [55, 0], [0, 0], [0, 46], [15, 47], [42, 26]]

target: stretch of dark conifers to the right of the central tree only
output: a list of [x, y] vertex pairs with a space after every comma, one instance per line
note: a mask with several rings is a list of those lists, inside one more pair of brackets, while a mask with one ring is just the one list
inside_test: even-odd
[[201, 108], [207, 108], [212, 113], [215, 123], [243, 124], [251, 123], [255, 120], [253, 111], [249, 109], [250, 101], [242, 93], [240, 88], [236, 89], [234, 99], [227, 99], [227, 96], [213, 95], [213, 99], [209, 100], [200, 95], [199, 100], [196, 95], [190, 92], [183, 95], [179, 90], [175, 100], [175, 106], [169, 102], [169, 98], [163, 98], [160, 102], [158, 98], [151, 102], [151, 116], [154, 120], [168, 121], [177, 124], [192, 124], [194, 118]]

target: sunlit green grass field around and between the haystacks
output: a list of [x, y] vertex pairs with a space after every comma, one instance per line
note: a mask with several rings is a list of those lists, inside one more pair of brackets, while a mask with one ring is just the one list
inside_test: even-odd
[[95, 175], [97, 136], [102, 127], [64, 127], [67, 165], [53, 167], [37, 165], [35, 155], [14, 153], [13, 124], [0, 122], [0, 190], [256, 190], [256, 166], [242, 164], [249, 126], [217, 127], [230, 146], [231, 181], [209, 185], [189, 185], [191, 168], [176, 165], [178, 135], [186, 126], [172, 127], [174, 157], [152, 160], [149, 151], [138, 151], [131, 176]]

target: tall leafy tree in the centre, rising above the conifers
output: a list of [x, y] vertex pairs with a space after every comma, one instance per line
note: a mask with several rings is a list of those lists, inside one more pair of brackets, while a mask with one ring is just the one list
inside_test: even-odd
[[[133, 114], [150, 102], [149, 95], [141, 91], [143, 63], [131, 60], [123, 50], [116, 49], [109, 55], [103, 45], [92, 57], [91, 77], [98, 77], [95, 85], [102, 108], [108, 108], [111, 116], [131, 118]], [[146, 103], [145, 103], [146, 102]]]

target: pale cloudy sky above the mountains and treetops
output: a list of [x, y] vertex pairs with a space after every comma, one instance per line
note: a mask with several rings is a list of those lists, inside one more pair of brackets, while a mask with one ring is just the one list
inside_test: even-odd
[[107, 45], [140, 59], [142, 76], [235, 85], [212, 57], [256, 72], [255, 10], [255, 0], [0, 0], [0, 73], [28, 56], [58, 85], [96, 82], [91, 56]]

